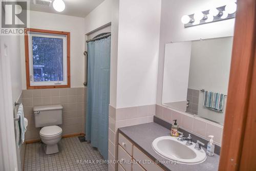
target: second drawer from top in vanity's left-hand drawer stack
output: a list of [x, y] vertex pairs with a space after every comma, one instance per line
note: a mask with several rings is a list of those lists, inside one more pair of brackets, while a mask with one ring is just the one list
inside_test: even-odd
[[132, 170], [132, 157], [120, 145], [118, 145], [118, 160], [123, 160], [120, 164], [126, 171]]

